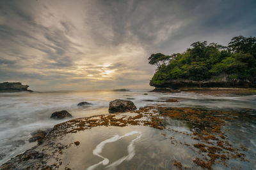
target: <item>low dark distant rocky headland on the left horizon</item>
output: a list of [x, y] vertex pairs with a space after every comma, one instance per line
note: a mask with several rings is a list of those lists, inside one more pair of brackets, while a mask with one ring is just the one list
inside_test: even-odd
[[26, 92], [31, 90], [28, 90], [28, 85], [22, 85], [21, 83], [9, 83], [4, 82], [0, 83], [0, 92]]

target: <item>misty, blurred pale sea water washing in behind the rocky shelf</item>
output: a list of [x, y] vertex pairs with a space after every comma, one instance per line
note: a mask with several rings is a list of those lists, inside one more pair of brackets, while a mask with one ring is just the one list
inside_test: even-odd
[[[147, 93], [148, 95], [144, 95]], [[19, 92], [0, 94], [0, 164], [11, 157], [24, 152], [36, 143], [28, 143], [30, 133], [38, 129], [47, 129], [66, 120], [51, 120], [54, 111], [67, 110], [74, 117], [90, 117], [108, 113], [109, 101], [133, 98], [137, 108], [147, 105], [164, 104], [173, 107], [204, 107], [223, 110], [255, 109], [256, 95], [246, 96], [207, 96], [193, 92], [163, 94], [148, 90], [131, 90], [129, 92]], [[166, 103], [166, 99], [178, 99], [179, 103]], [[149, 100], [149, 101], [148, 101]], [[78, 103], [87, 101], [92, 106], [79, 107]], [[252, 113], [253, 114], [253, 113]], [[230, 123], [236, 129], [236, 123]], [[250, 136], [247, 145], [255, 153], [256, 140], [253, 138], [255, 122], [241, 123], [242, 134]], [[175, 127], [179, 129], [180, 127]], [[123, 134], [120, 134], [123, 135]], [[230, 138], [237, 134], [230, 134]], [[129, 136], [127, 138], [130, 138]], [[236, 138], [235, 138], [236, 139]]]

